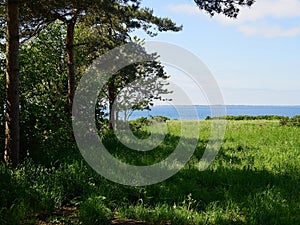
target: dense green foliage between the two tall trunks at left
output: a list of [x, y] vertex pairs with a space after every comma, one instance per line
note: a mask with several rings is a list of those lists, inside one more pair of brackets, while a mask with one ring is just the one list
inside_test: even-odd
[[43, 163], [76, 150], [67, 101], [65, 30], [53, 23], [20, 50], [21, 153]]

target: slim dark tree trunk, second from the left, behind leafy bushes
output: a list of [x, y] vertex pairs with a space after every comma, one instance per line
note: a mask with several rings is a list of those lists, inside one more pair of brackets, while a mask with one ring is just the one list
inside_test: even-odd
[[75, 22], [69, 21], [67, 24], [67, 64], [68, 64], [68, 112], [72, 116], [73, 98], [75, 93], [75, 58], [74, 58], [74, 30]]

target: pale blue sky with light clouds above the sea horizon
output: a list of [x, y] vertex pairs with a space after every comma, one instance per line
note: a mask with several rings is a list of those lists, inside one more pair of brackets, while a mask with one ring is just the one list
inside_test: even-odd
[[[195, 54], [214, 76], [225, 104], [300, 105], [300, 0], [257, 0], [251, 8], [242, 8], [237, 19], [210, 17], [193, 0], [142, 2], [183, 30], [154, 38], [136, 34]], [[182, 72], [166, 70], [192, 104], [209, 104]]]

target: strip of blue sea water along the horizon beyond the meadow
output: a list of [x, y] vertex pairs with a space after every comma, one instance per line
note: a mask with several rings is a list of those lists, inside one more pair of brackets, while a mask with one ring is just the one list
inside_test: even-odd
[[[177, 108], [177, 109], [176, 109]], [[203, 120], [207, 116], [212, 116], [209, 106], [154, 106], [150, 111], [135, 111], [130, 119], [151, 116], [166, 116], [170, 119], [183, 120]], [[225, 106], [227, 115], [239, 116], [261, 116], [261, 115], [278, 115], [293, 117], [300, 115], [300, 106]], [[178, 113], [181, 112], [181, 117]], [[182, 116], [183, 115], [183, 116]]]

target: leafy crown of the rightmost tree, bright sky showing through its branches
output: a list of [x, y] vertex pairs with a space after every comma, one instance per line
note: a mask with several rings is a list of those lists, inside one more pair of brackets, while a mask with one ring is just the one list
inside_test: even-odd
[[130, 110], [150, 110], [154, 100], [168, 100], [164, 95], [171, 93], [167, 89], [169, 76], [159, 62], [159, 57], [154, 54], [153, 58], [157, 61], [123, 68], [111, 81], [115, 96], [110, 101], [115, 102], [119, 111], [127, 110], [128, 116], [132, 113]]

